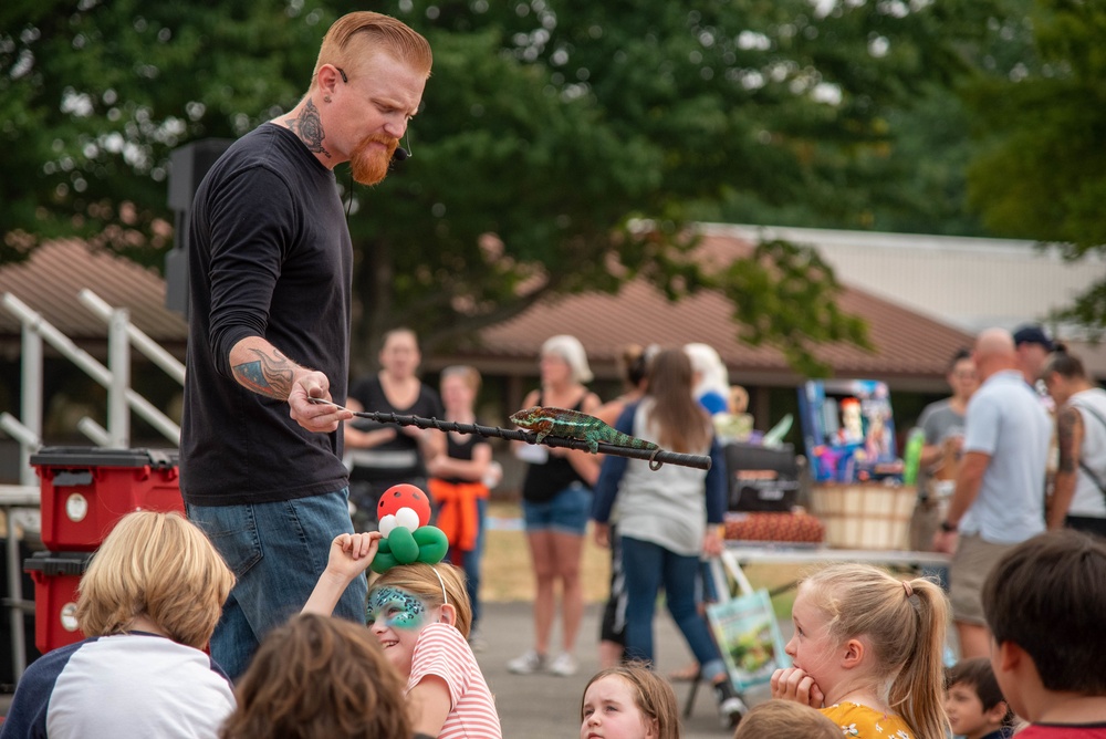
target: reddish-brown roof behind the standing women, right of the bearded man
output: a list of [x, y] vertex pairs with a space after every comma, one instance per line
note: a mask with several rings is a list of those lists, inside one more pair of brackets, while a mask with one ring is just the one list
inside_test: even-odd
[[[708, 235], [699, 249], [703, 258], [726, 261], [749, 246], [732, 236]], [[949, 358], [973, 340], [953, 326], [857, 288], [845, 288], [838, 305], [868, 322], [874, 351], [847, 344], [818, 347], [814, 354], [837, 376], [886, 379], [899, 389], [946, 389]], [[720, 293], [702, 291], [674, 303], [638, 279], [613, 295], [586, 293], [540, 301], [524, 313], [481, 331], [476, 343], [450, 360], [480, 360], [482, 368], [532, 374], [542, 342], [568, 333], [584, 344], [596, 374], [617, 376], [617, 356], [628, 343], [680, 346], [703, 342], [718, 351], [735, 382], [794, 385], [800, 377], [783, 354], [773, 347], [742, 343], [739, 324], [731, 315], [732, 306]]]

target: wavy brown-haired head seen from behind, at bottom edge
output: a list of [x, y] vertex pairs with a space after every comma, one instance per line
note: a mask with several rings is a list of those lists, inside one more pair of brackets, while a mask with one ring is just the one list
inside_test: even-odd
[[408, 739], [404, 681], [353, 622], [302, 614], [265, 636], [221, 739]]

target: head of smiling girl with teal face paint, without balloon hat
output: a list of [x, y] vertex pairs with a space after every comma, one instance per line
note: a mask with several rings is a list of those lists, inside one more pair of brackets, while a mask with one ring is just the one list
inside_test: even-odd
[[366, 621], [388, 662], [409, 674], [415, 642], [427, 624], [450, 624], [468, 638], [472, 606], [465, 575], [447, 563], [394, 566], [373, 582]]

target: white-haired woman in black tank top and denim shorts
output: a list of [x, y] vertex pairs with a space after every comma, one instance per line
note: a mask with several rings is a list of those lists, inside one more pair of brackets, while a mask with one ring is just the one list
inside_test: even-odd
[[[553, 406], [594, 414], [599, 398], [584, 387], [592, 378], [580, 340], [565, 334], [551, 336], [542, 344], [542, 386], [526, 395], [523, 407]], [[584, 615], [580, 564], [599, 461], [586, 451], [529, 446], [522, 441], [512, 445], [515, 454], [525, 455], [523, 458], [530, 462], [522, 483], [522, 516], [536, 593], [534, 646], [509, 662], [507, 668], [518, 675], [543, 670], [562, 677], [575, 675], [573, 652]], [[550, 659], [557, 583], [561, 584], [561, 654]]]

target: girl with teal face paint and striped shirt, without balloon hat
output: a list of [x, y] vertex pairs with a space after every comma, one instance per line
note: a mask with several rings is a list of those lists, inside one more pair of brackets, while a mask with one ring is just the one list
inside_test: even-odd
[[[303, 610], [330, 615], [342, 593], [376, 556], [380, 533], [343, 533]], [[494, 700], [466, 641], [472, 608], [465, 577], [439, 563], [400, 564], [368, 593], [366, 621], [388, 662], [406, 680], [416, 736], [501, 739]]]

